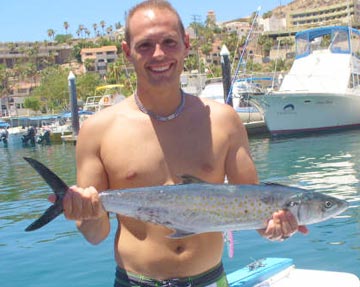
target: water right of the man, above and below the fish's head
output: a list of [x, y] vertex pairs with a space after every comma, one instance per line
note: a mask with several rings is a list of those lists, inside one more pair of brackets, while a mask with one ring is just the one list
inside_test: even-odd
[[[359, 142], [359, 130], [303, 138], [250, 140], [261, 181], [315, 189], [346, 199], [351, 205], [341, 216], [309, 226], [309, 235], [297, 234], [285, 244], [274, 245], [255, 237], [252, 242], [255, 258], [286, 256], [302, 268], [352, 272], [360, 276]], [[243, 245], [244, 242], [240, 242], [235, 251], [246, 253]]]

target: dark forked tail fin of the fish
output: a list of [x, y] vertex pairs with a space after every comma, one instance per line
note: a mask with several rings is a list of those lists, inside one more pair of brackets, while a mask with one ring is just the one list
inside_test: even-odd
[[25, 229], [25, 231], [33, 231], [43, 227], [64, 211], [63, 198], [69, 187], [62, 181], [61, 178], [39, 161], [29, 157], [24, 157], [24, 159], [37, 171], [37, 173], [45, 180], [56, 195], [54, 204]]

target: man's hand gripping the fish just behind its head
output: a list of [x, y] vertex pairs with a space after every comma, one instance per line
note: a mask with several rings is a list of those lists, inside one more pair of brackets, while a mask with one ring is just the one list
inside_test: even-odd
[[272, 241], [283, 241], [294, 235], [297, 231], [307, 234], [309, 230], [306, 226], [298, 225], [294, 215], [287, 210], [274, 212], [268, 221], [265, 229], [258, 230], [261, 236]]

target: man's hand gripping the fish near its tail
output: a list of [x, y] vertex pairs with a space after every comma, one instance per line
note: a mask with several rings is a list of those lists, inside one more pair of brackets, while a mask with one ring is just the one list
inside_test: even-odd
[[[50, 202], [54, 202], [55, 199], [55, 195], [48, 198]], [[94, 187], [70, 187], [64, 196], [63, 208], [65, 217], [70, 220], [97, 219], [106, 214], [99, 193]]]

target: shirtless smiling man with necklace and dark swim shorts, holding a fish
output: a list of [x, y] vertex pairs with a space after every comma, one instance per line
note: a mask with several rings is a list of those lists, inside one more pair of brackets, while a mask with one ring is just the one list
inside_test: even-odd
[[[93, 244], [110, 230], [99, 203], [102, 190], [179, 183], [179, 174], [211, 183], [223, 183], [225, 176], [234, 184], [258, 182], [246, 130], [234, 109], [179, 88], [189, 38], [168, 2], [135, 6], [122, 47], [137, 74], [135, 95], [84, 122], [77, 142], [78, 187], [70, 188], [64, 200], [65, 216], [77, 220]], [[221, 233], [169, 239], [172, 231], [164, 226], [121, 214], [117, 221], [115, 286], [184, 286], [190, 281], [226, 286]], [[297, 230], [306, 232], [291, 214], [279, 211], [259, 232], [280, 240]]]

